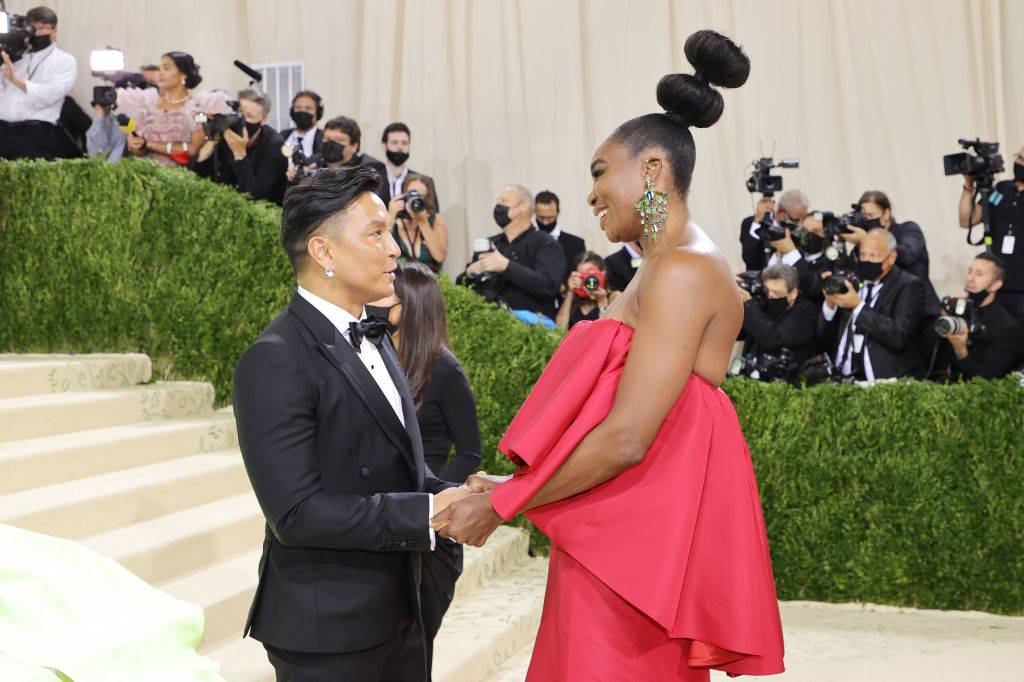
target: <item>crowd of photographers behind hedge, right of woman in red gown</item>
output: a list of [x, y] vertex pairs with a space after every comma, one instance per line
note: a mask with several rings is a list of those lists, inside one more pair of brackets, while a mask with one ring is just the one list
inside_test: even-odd
[[[894, 216], [889, 198], [866, 191], [843, 215], [815, 211], [781, 178], [755, 163], [748, 187], [762, 198], [739, 227], [746, 271], [742, 352], [730, 374], [794, 384], [874, 382], [915, 377], [996, 378], [1024, 367], [1024, 147], [1013, 179], [997, 144], [961, 140], [945, 159], [963, 175], [959, 225], [976, 247], [962, 291], [939, 298], [929, 280], [924, 231]], [[787, 164], [785, 167], [793, 167]], [[972, 241], [972, 230], [982, 236]]]

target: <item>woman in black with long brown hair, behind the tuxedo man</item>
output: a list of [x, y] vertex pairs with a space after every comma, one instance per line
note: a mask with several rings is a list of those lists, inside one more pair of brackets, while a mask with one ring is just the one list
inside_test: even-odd
[[[388, 322], [397, 327], [393, 338], [416, 403], [423, 457], [435, 476], [462, 483], [480, 465], [476, 400], [450, 348], [437, 278], [419, 262], [402, 264], [397, 274], [394, 293], [398, 302], [390, 309]], [[453, 444], [455, 456], [451, 457]], [[420, 585], [428, 664], [461, 573], [462, 546], [438, 535], [436, 549], [423, 555]]]

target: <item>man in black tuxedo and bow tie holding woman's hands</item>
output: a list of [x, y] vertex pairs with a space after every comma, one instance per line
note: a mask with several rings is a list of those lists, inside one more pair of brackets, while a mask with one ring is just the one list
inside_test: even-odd
[[293, 187], [282, 242], [298, 291], [239, 361], [234, 415], [266, 517], [246, 634], [278, 680], [428, 679], [421, 552], [468, 494], [424, 465], [416, 408], [382, 321], [398, 246], [366, 166]]

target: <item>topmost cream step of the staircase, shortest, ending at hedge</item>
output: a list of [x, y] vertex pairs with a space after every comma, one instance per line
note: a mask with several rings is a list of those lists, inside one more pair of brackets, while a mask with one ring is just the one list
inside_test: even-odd
[[144, 384], [152, 377], [153, 363], [141, 353], [0, 353], [0, 398], [122, 388]]

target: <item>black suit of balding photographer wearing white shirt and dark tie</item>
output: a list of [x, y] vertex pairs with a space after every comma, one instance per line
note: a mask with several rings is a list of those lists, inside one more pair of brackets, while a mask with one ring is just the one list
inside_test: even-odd
[[[911, 374], [921, 363], [915, 335], [925, 315], [927, 287], [899, 267], [893, 267], [883, 281], [878, 300], [871, 307], [864, 306], [849, 331], [848, 344], [853, 343], [853, 335], [864, 336], [864, 349], [871, 363], [876, 379], [889, 379]], [[842, 364], [839, 345], [843, 340], [852, 310], [840, 308], [830, 322], [824, 314], [818, 314], [818, 338], [829, 349], [829, 354]], [[863, 379], [863, 367], [854, 363], [856, 379]], [[841, 368], [842, 369], [842, 368]]]

